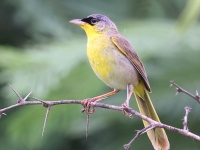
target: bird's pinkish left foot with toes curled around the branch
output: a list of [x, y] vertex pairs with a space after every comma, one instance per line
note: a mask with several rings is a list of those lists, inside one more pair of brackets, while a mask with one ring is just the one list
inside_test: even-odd
[[91, 103], [95, 100], [93, 98], [87, 98], [81, 101], [81, 104], [83, 105], [84, 109], [82, 112], [86, 112], [86, 114], [90, 115], [95, 112], [95, 107], [91, 106]]

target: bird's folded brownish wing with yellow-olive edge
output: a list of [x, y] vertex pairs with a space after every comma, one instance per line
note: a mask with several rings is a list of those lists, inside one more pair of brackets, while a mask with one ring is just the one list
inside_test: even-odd
[[147, 88], [149, 92], [151, 92], [151, 88], [149, 85], [149, 81], [147, 79], [147, 74], [144, 69], [144, 66], [142, 62], [140, 61], [138, 55], [136, 54], [136, 52], [130, 45], [130, 43], [121, 35], [114, 35], [111, 37], [111, 40], [115, 44], [115, 46], [119, 49], [119, 51], [122, 54], [124, 54], [132, 63], [132, 65], [137, 69], [137, 71], [139, 72], [139, 74], [141, 75], [144, 81], [145, 87]]

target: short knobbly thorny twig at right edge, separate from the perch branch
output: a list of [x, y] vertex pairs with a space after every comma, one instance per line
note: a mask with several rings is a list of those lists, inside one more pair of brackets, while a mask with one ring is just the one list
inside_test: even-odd
[[176, 84], [174, 81], [170, 81], [170, 83], [171, 83], [171, 85], [170, 86], [174, 86], [174, 87], [176, 87], [176, 95], [178, 94], [178, 93], [185, 93], [186, 95], [188, 95], [188, 96], [190, 96], [190, 97], [192, 97], [194, 100], [196, 100], [198, 103], [200, 103], [200, 96], [199, 96], [199, 93], [198, 93], [198, 91], [196, 90], [196, 95], [193, 95], [193, 94], [191, 94], [190, 92], [188, 92], [188, 91], [186, 91], [186, 90], [184, 90], [182, 87], [180, 87], [178, 84]]

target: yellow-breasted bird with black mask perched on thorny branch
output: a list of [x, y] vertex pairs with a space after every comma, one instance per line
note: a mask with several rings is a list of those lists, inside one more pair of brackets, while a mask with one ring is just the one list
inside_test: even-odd
[[[87, 113], [91, 102], [100, 101], [120, 90], [127, 90], [127, 97], [122, 104], [129, 107], [129, 100], [134, 94], [141, 114], [160, 122], [151, 102], [151, 87], [145, 68], [131, 44], [120, 35], [115, 23], [102, 14], [92, 14], [82, 19], [69, 21], [80, 26], [87, 35], [87, 57], [92, 70], [113, 91], [100, 96], [85, 99], [82, 104]], [[124, 113], [126, 114], [125, 110]], [[150, 124], [144, 121], [144, 126]], [[167, 134], [163, 128], [147, 131], [155, 150], [168, 150], [170, 147]]]

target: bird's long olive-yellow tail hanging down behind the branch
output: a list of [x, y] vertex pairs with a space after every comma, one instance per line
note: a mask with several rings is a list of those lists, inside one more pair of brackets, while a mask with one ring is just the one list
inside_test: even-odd
[[[134, 95], [135, 95], [135, 99], [137, 101], [140, 113], [157, 122], [160, 122], [160, 119], [158, 118], [158, 115], [149, 97], [149, 92], [146, 90], [143, 84], [139, 84], [134, 89]], [[149, 125], [147, 121], [143, 120], [143, 123], [145, 127]], [[156, 129], [149, 130], [147, 132], [147, 135], [155, 150], [169, 149], [170, 144], [167, 138], [167, 134], [165, 133], [165, 130], [163, 128], [156, 128]]]

